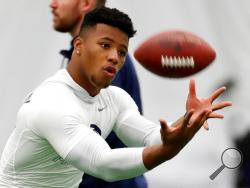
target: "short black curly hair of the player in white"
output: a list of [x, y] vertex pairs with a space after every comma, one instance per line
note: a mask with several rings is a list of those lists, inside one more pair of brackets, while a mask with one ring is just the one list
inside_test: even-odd
[[127, 14], [119, 11], [116, 8], [99, 7], [85, 15], [81, 25], [80, 34], [84, 29], [96, 26], [98, 23], [117, 27], [126, 33], [128, 38], [133, 37], [136, 33], [133, 23]]

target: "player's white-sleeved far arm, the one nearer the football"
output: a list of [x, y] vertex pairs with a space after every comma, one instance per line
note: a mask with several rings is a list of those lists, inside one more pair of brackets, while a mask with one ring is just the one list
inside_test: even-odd
[[160, 126], [141, 116], [135, 102], [125, 91], [119, 88], [113, 90], [119, 109], [113, 129], [116, 135], [127, 146], [151, 145], [152, 135], [160, 137]]

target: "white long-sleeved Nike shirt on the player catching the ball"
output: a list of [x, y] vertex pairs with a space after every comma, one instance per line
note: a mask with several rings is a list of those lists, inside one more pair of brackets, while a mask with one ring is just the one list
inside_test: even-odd
[[[111, 130], [132, 148], [110, 149]], [[143, 174], [143, 148], [161, 142], [159, 130], [122, 89], [91, 97], [62, 69], [21, 106], [2, 153], [0, 187], [74, 188], [83, 172], [107, 181]]]

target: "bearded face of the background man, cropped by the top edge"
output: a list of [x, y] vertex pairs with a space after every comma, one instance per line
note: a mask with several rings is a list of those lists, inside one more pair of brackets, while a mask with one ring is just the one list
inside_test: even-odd
[[72, 32], [82, 21], [81, 0], [51, 0], [53, 26], [59, 32]]

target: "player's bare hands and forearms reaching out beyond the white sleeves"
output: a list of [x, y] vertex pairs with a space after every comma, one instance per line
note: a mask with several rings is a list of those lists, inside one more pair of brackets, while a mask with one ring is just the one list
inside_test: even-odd
[[196, 96], [195, 81], [190, 80], [186, 114], [171, 126], [168, 126], [165, 120], [160, 120], [162, 144], [144, 149], [143, 162], [145, 167], [152, 169], [174, 157], [193, 138], [202, 125], [205, 129], [208, 129], [207, 119], [223, 118], [222, 114], [218, 114], [215, 111], [231, 106], [232, 103], [223, 101], [213, 104], [213, 102], [225, 89], [225, 87], [221, 87], [214, 91], [210, 97], [199, 99]]

